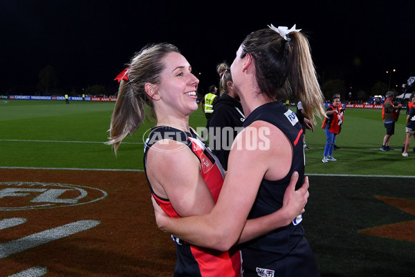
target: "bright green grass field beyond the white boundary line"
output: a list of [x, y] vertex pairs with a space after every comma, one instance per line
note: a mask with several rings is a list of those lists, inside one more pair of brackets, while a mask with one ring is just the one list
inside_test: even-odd
[[[95, 168], [142, 170], [143, 134], [154, 125], [146, 121], [127, 137], [117, 157], [107, 141], [114, 102], [8, 100], [0, 104], [0, 166], [27, 168]], [[396, 124], [391, 147], [396, 151], [381, 152], [385, 127], [380, 109], [347, 109], [342, 132], [333, 156], [338, 162], [324, 164], [326, 136], [319, 122], [315, 132], [307, 130], [306, 142], [313, 148], [306, 152], [308, 174], [338, 175], [409, 175], [415, 154], [400, 154], [405, 137], [405, 111]], [[205, 126], [201, 109], [192, 114], [190, 125]], [[412, 141], [415, 146], [414, 141]], [[411, 148], [412, 149], [412, 148]]]

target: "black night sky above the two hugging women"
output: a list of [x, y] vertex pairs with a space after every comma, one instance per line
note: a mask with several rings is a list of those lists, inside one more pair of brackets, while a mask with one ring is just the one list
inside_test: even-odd
[[216, 64], [231, 63], [243, 38], [267, 24], [302, 28], [321, 82], [369, 89], [389, 82], [386, 70], [397, 70], [399, 86], [415, 74], [413, 1], [235, 2], [0, 0], [0, 94], [37, 84], [47, 64], [61, 88], [113, 86], [151, 42], [178, 46], [207, 88], [219, 80]]

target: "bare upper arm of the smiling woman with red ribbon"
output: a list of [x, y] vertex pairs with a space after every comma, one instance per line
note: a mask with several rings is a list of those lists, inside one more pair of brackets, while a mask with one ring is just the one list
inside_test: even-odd
[[169, 199], [176, 213], [183, 217], [203, 215], [214, 206], [199, 166], [199, 160], [187, 146], [172, 140], [156, 143], [147, 154], [147, 176], [154, 193]]

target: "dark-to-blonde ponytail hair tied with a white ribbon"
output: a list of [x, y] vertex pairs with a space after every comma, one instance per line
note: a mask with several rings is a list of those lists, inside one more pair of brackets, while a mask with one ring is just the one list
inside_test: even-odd
[[305, 116], [315, 124], [315, 114], [322, 118], [324, 96], [306, 37], [292, 32], [288, 40], [271, 29], [250, 33], [242, 42], [241, 58], [252, 55], [255, 78], [261, 93], [270, 100], [302, 101]]

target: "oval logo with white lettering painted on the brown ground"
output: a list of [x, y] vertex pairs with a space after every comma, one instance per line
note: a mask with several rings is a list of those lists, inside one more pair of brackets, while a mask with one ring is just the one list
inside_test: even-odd
[[41, 182], [0, 182], [0, 211], [58, 208], [89, 204], [107, 197], [87, 186]]

